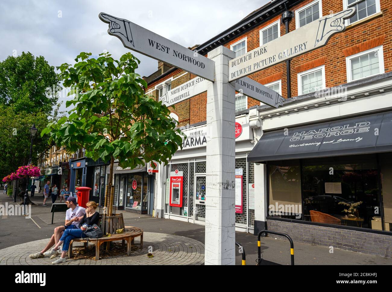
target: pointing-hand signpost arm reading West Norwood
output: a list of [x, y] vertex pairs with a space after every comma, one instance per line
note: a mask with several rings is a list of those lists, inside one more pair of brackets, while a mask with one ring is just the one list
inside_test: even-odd
[[106, 13], [100, 20], [109, 24], [109, 35], [118, 37], [124, 47], [171, 64], [210, 81], [215, 81], [215, 64], [211, 59], [168, 40], [133, 22]]

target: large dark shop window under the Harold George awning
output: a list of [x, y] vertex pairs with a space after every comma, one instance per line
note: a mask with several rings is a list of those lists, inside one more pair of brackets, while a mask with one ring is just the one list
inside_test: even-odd
[[[390, 230], [392, 156], [379, 161]], [[376, 155], [270, 162], [268, 172], [269, 216], [383, 230]]]

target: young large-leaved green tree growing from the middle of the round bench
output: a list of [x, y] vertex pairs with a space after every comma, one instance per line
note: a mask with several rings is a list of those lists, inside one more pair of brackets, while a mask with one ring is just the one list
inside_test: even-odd
[[63, 85], [71, 87], [69, 95], [75, 95], [66, 106], [74, 108], [41, 135], [50, 132], [49, 142], [69, 152], [85, 148], [86, 157], [110, 161], [109, 186], [115, 159], [123, 168], [150, 161], [166, 164], [182, 148], [182, 133], [169, 109], [145, 95], [147, 83], [135, 73], [140, 61], [131, 53], [120, 60], [108, 53], [90, 56], [82, 52], [74, 66], [58, 68]]

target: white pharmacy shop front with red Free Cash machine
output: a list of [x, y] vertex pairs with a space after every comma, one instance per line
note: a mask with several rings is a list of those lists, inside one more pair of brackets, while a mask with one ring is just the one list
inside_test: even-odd
[[[253, 232], [254, 181], [253, 164], [247, 163], [252, 150], [253, 132], [247, 116], [236, 119], [236, 230]], [[208, 131], [205, 122], [183, 131], [187, 139], [183, 149], [165, 166], [162, 188], [164, 217], [196, 224], [205, 224], [206, 144]]]

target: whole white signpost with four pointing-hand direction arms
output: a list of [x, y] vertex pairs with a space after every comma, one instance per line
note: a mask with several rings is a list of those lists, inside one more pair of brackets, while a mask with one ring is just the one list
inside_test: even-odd
[[207, 58], [129, 20], [100, 13], [109, 24], [108, 33], [125, 47], [198, 76], [171, 89], [162, 97], [163, 104], [207, 91], [211, 137], [206, 145], [205, 265], [235, 264], [235, 92], [282, 106], [281, 95], [246, 76], [325, 46], [332, 35], [345, 31], [344, 20], [354, 13], [349, 8], [324, 16], [237, 58], [223, 46], [212, 49]]

